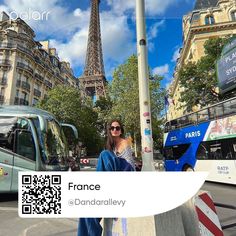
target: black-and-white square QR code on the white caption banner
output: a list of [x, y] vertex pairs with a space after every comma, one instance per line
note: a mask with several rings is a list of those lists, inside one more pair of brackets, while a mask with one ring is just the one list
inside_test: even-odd
[[22, 175], [22, 214], [61, 214], [61, 176]]

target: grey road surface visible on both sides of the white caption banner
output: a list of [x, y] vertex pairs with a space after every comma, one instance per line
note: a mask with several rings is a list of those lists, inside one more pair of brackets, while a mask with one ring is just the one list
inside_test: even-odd
[[[86, 171], [91, 171], [86, 170]], [[236, 188], [230, 185], [205, 183], [202, 190], [210, 191], [214, 202], [236, 205]], [[236, 223], [236, 210], [217, 207], [221, 225]], [[17, 195], [0, 196], [0, 235], [8, 236], [49, 236], [76, 235], [77, 219], [22, 219], [17, 213]], [[225, 236], [235, 236], [236, 227], [224, 230]]]

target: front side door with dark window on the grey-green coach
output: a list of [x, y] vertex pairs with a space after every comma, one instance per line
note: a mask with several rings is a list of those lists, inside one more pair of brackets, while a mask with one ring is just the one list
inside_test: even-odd
[[18, 191], [18, 172], [36, 170], [36, 144], [29, 120], [18, 118], [14, 131], [14, 163], [11, 191]]

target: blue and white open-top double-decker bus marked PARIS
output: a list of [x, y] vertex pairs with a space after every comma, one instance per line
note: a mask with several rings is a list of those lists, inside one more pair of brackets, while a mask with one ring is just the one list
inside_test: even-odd
[[168, 121], [167, 171], [208, 171], [208, 180], [236, 184], [236, 98]]

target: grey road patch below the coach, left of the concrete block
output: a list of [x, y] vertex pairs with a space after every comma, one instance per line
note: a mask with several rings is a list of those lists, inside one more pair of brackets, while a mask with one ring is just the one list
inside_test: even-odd
[[0, 235], [76, 235], [77, 219], [23, 219], [17, 213], [17, 195], [0, 196]]

